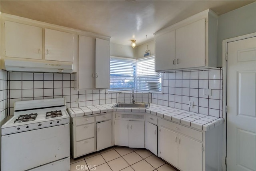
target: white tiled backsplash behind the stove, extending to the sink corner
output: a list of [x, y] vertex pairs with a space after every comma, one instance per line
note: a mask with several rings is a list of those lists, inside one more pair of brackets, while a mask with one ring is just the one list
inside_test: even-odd
[[117, 103], [119, 98], [118, 93], [106, 93], [105, 89], [74, 90], [74, 74], [8, 72], [8, 91], [9, 115], [13, 115], [15, 101], [64, 97], [68, 108]]

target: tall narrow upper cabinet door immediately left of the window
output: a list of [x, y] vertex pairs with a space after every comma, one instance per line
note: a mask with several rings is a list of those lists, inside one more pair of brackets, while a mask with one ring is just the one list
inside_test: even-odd
[[95, 88], [109, 88], [109, 41], [95, 39]]

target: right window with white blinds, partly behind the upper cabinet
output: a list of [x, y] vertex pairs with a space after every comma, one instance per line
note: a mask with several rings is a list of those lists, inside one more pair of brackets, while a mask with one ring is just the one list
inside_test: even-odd
[[137, 61], [137, 90], [161, 91], [161, 74], [155, 72], [155, 58]]

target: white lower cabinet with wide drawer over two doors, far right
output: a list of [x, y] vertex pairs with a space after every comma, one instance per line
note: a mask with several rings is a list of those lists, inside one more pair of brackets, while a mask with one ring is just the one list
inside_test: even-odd
[[202, 171], [203, 144], [193, 139], [202, 139], [202, 132], [170, 121], [160, 124], [159, 156], [182, 171]]

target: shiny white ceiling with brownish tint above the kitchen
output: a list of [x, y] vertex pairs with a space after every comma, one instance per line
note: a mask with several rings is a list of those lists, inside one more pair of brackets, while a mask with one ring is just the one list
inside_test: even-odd
[[[247, 0], [1, 0], [0, 11], [33, 20], [110, 36], [110, 41], [137, 45], [153, 33], [198, 12], [221, 15], [254, 1]], [[148, 38], [146, 38], [146, 35]]]

